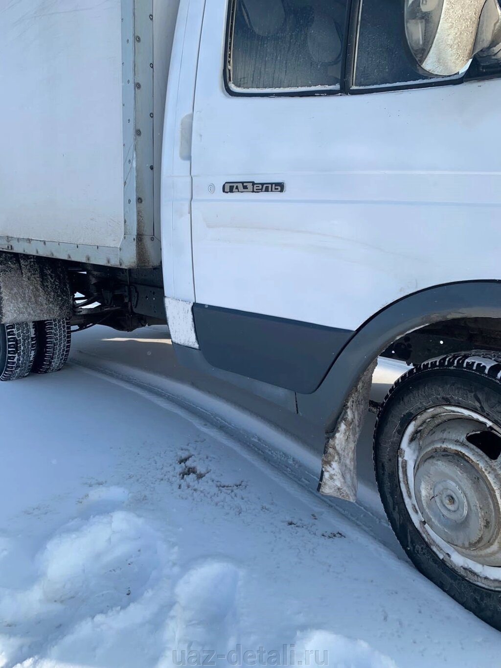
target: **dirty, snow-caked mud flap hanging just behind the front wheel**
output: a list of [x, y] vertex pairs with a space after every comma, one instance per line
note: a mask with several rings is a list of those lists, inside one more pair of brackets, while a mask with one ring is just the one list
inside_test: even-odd
[[347, 501], [357, 500], [357, 442], [369, 407], [375, 360], [351, 389], [336, 428], [327, 434], [319, 492]]

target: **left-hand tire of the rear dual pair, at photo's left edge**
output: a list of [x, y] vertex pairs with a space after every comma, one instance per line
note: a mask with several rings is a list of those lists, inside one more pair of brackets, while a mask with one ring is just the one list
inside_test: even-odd
[[36, 351], [34, 323], [0, 325], [0, 381], [26, 377]]

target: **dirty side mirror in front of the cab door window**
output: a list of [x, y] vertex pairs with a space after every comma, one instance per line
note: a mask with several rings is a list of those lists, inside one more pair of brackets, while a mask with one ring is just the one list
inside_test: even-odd
[[[484, 54], [501, 61], [498, 0], [404, 0], [407, 43], [422, 70], [451, 76]], [[490, 62], [488, 63], [490, 64]]]

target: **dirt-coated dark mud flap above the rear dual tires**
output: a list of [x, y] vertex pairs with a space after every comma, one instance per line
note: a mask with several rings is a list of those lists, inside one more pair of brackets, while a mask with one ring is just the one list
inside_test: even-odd
[[71, 317], [63, 263], [33, 255], [0, 253], [0, 322], [26, 323]]

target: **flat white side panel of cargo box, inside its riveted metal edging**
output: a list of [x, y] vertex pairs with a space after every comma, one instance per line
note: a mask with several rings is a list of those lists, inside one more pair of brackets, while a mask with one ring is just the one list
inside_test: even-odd
[[118, 247], [120, 0], [2, 5], [0, 234]]

